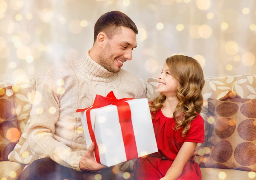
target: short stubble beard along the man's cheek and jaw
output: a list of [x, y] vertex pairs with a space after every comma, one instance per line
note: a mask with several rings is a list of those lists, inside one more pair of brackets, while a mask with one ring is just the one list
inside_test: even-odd
[[113, 58], [114, 56], [111, 54], [111, 47], [109, 43], [105, 46], [104, 49], [102, 49], [102, 52], [99, 54], [99, 65], [104, 67], [110, 72], [119, 72], [121, 68], [115, 69], [114, 68], [114, 61], [115, 59]]

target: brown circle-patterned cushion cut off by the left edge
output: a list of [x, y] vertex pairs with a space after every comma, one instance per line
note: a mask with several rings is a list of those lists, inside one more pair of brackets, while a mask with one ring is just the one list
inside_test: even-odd
[[0, 88], [0, 161], [8, 160], [20, 138], [12, 86]]

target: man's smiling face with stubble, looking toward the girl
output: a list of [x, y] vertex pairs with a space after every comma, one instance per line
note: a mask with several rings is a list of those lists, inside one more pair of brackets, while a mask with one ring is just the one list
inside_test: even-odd
[[102, 48], [98, 62], [111, 72], [119, 72], [123, 63], [131, 60], [132, 51], [137, 47], [136, 34], [129, 28], [119, 27], [119, 31]]

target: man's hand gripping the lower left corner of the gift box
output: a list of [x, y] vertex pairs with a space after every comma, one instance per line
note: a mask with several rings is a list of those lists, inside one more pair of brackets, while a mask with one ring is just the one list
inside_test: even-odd
[[97, 163], [93, 157], [93, 151], [95, 149], [95, 144], [92, 143], [88, 150], [84, 153], [84, 155], [80, 159], [80, 169], [86, 171], [98, 171], [100, 169], [106, 168], [100, 163]]

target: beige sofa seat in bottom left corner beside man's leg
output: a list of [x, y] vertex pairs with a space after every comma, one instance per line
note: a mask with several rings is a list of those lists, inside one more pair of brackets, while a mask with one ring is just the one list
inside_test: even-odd
[[0, 162], [0, 179], [4, 177], [7, 180], [16, 180], [21, 172], [23, 171], [25, 165], [11, 162], [11, 161], [1, 161]]

